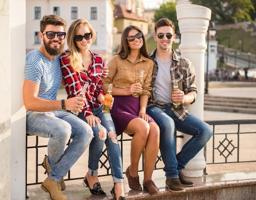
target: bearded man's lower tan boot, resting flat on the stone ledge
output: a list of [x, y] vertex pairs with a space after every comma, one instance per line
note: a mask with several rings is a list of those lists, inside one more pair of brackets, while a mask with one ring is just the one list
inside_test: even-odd
[[41, 184], [41, 188], [48, 192], [52, 200], [67, 200], [67, 197], [61, 191], [61, 183], [51, 180], [48, 177]]

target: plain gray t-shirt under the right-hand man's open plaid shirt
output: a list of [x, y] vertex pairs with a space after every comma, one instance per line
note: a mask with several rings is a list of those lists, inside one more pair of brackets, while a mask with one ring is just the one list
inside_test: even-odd
[[173, 87], [171, 83], [171, 62], [172, 59], [164, 62], [155, 55], [157, 59], [158, 71], [155, 79], [155, 94], [156, 100], [162, 103], [172, 103], [171, 98], [173, 93]]

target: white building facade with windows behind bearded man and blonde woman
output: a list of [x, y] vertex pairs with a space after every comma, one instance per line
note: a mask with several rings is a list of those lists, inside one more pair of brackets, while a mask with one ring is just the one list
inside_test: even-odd
[[26, 53], [42, 45], [39, 33], [43, 16], [56, 14], [67, 20], [67, 29], [76, 19], [88, 20], [97, 33], [90, 50], [108, 60], [113, 49], [114, 10], [112, 0], [26, 0]]

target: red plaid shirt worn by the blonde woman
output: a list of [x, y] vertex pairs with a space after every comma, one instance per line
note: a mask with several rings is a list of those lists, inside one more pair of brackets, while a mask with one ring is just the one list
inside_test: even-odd
[[88, 70], [75, 72], [70, 66], [68, 53], [68, 50], [63, 51], [60, 57], [61, 71], [64, 78], [67, 98], [77, 96], [82, 90], [84, 84], [88, 84], [88, 89], [85, 94], [87, 101], [85, 102], [85, 107], [82, 110], [84, 117], [87, 117], [92, 115], [91, 108], [101, 106], [101, 103], [97, 100], [99, 94], [105, 95], [101, 83], [104, 61], [99, 55], [91, 52], [92, 63]]

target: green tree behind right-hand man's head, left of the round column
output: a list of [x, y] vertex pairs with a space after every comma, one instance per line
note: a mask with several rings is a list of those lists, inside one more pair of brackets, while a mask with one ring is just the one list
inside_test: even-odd
[[177, 13], [176, 13], [176, 2], [166, 2], [160, 5], [159, 9], [155, 11], [154, 21], [157, 22], [159, 19], [168, 18], [175, 24], [175, 32], [180, 35]]

